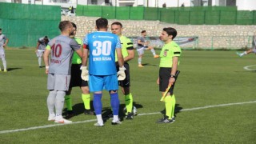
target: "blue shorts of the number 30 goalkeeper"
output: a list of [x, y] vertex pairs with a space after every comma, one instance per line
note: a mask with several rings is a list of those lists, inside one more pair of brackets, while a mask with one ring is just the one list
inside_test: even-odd
[[89, 74], [90, 92], [102, 90], [118, 90], [118, 76], [112, 75], [91, 75]]

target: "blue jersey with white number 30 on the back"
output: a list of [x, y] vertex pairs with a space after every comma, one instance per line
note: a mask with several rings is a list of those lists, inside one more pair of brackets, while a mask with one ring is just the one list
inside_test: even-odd
[[118, 35], [105, 31], [87, 34], [83, 44], [90, 50], [89, 74], [117, 74], [115, 66], [115, 49], [122, 48]]

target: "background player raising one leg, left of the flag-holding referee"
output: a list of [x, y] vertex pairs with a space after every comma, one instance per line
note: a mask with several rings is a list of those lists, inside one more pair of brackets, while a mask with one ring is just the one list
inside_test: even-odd
[[144, 50], [150, 50], [154, 55], [154, 58], [159, 58], [159, 55], [155, 54], [154, 47], [149, 46], [149, 42], [146, 41], [146, 30], [142, 30], [142, 36], [137, 38], [137, 52], [138, 52], [138, 67], [142, 66], [142, 56], [144, 54]]

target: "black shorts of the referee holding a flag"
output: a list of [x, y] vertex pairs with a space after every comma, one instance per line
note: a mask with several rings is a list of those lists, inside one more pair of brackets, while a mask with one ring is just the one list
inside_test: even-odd
[[[166, 88], [169, 85], [169, 79], [170, 79], [170, 72], [171, 72], [171, 68], [166, 68], [166, 67], [160, 67], [159, 69], [159, 91], [166, 91]], [[177, 78], [175, 78], [175, 82], [174, 84], [170, 87], [170, 90], [168, 92], [170, 92], [170, 94], [174, 94], [174, 86], [175, 83], [177, 82]]]

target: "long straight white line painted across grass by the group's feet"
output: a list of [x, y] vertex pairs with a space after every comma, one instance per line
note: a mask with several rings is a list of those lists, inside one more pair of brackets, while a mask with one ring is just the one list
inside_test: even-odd
[[[250, 104], [250, 103], [256, 103], [256, 101], [226, 103], [226, 104], [220, 104], [220, 105], [214, 105], [214, 106], [194, 107], [194, 108], [190, 108], [190, 109], [183, 109], [180, 111], [202, 110], [202, 109], [208, 109], [208, 108], [213, 108], [213, 107], [234, 106], [234, 105], [243, 105], [243, 104]], [[161, 114], [161, 112], [138, 114], [138, 116], [151, 115], [151, 114]], [[72, 122], [70, 124], [54, 124], [54, 125], [46, 125], [46, 126], [34, 126], [34, 127], [24, 128], [24, 129], [17, 129], [17, 130], [1, 130], [0, 134], [14, 133], [14, 132], [18, 132], [18, 131], [45, 129], [45, 128], [54, 127], [54, 126], [65, 126], [65, 125], [73, 125], [73, 124], [78, 124], [78, 123], [96, 122], [96, 121], [97, 121], [96, 119], [90, 119], [90, 120], [86, 120], [86, 121]]]

